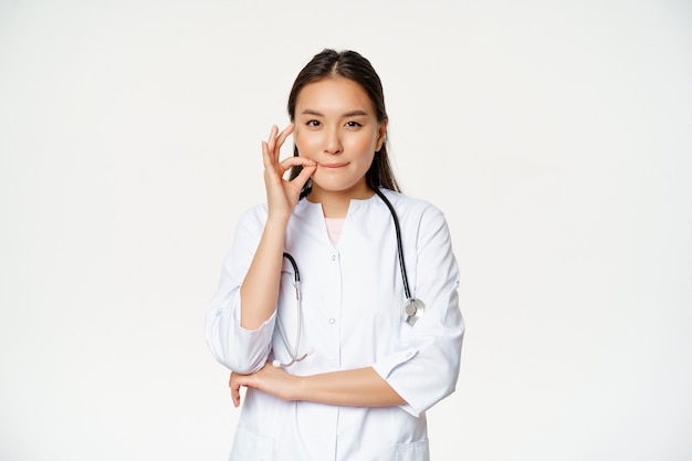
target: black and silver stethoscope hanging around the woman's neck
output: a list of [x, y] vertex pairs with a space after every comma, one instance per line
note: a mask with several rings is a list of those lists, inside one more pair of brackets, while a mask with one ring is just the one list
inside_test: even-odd
[[[406, 294], [406, 303], [403, 304], [401, 317], [403, 322], [413, 326], [416, 322], [423, 315], [426, 310], [426, 304], [417, 297], [411, 296], [411, 289], [409, 287], [409, 279], [408, 273], [406, 271], [406, 263], [403, 262], [403, 245], [401, 243], [401, 226], [399, 224], [399, 218], [397, 218], [397, 212], [395, 211], [391, 202], [387, 200], [385, 195], [379, 190], [375, 189], [375, 193], [382, 199], [389, 212], [391, 213], [391, 218], [394, 220], [394, 227], [397, 235], [397, 253], [399, 254], [399, 268], [401, 269], [401, 281], [403, 282], [403, 293]], [[291, 343], [289, 342], [289, 337], [286, 336], [286, 332], [283, 328], [283, 325], [279, 317], [276, 317], [276, 324], [279, 325], [279, 334], [281, 336], [281, 340], [283, 342], [286, 350], [289, 350], [289, 355], [291, 360], [283, 364], [280, 360], [275, 359], [272, 365], [275, 367], [290, 367], [291, 365], [304, 360], [308, 355], [315, 352], [313, 347], [308, 347], [302, 356], [298, 356], [298, 348], [301, 344], [301, 273], [298, 271], [298, 265], [295, 262], [295, 259], [284, 252], [283, 256], [289, 260], [291, 265], [293, 266], [293, 281], [295, 286], [295, 301], [296, 301], [296, 336], [295, 336], [295, 345], [291, 347]]]

